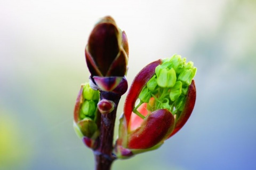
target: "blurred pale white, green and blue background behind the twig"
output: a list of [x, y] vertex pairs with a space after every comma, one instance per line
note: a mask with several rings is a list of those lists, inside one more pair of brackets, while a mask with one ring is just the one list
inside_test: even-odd
[[94, 169], [73, 109], [89, 77], [84, 47], [105, 15], [129, 39], [129, 84], [174, 53], [197, 67], [187, 124], [158, 150], [113, 169], [256, 169], [254, 0], [1, 0], [0, 169]]

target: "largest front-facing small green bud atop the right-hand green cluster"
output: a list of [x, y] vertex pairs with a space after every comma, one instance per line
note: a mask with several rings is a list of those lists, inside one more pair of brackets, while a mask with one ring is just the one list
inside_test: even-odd
[[157, 77], [157, 85], [160, 87], [173, 87], [176, 79], [176, 72], [173, 68], [170, 70], [160, 69]]

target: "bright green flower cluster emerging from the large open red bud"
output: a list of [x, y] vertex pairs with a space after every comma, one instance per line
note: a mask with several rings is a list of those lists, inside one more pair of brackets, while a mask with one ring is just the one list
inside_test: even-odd
[[164, 59], [156, 67], [155, 75], [143, 87], [139, 94], [140, 103], [134, 111], [137, 112], [142, 103], [148, 103], [149, 111], [168, 109], [173, 115], [179, 114], [185, 106], [188, 86], [196, 70], [193, 62], [186, 62], [186, 58], [181, 58], [180, 55]]

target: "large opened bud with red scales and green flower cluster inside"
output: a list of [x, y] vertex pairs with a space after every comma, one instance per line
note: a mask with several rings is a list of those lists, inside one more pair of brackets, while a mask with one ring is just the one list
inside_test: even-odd
[[[120, 119], [118, 158], [157, 149], [185, 125], [195, 105], [195, 73], [193, 63], [186, 63], [180, 55], [152, 62], [139, 72]], [[137, 99], [140, 102], [135, 105]]]

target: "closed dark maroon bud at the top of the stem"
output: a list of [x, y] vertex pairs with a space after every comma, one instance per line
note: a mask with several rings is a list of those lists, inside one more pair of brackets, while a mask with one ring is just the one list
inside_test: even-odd
[[85, 47], [91, 76], [123, 77], [127, 71], [129, 46], [124, 31], [111, 17], [102, 18], [93, 28]]

